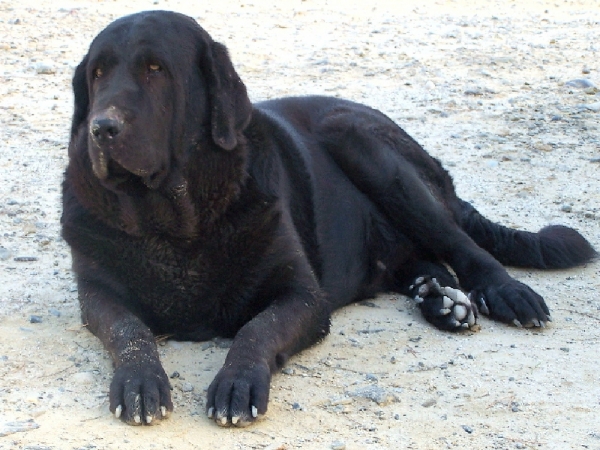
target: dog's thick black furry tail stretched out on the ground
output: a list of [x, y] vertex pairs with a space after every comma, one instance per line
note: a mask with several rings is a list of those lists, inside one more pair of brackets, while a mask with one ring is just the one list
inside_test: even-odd
[[463, 229], [503, 265], [566, 269], [598, 257], [592, 245], [572, 228], [551, 225], [537, 233], [513, 230], [486, 219], [470, 203], [462, 201], [461, 207]]

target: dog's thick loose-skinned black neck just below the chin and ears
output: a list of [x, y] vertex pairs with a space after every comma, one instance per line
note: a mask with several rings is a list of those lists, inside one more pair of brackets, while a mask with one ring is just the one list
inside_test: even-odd
[[188, 245], [205, 236], [223, 217], [239, 198], [247, 178], [244, 142], [229, 152], [200, 145], [205, 144], [195, 144], [187, 161], [171, 167], [158, 189], [136, 194], [113, 192], [102, 186], [91, 176], [89, 158], [72, 160], [70, 166], [90, 166], [84, 171], [73, 170], [74, 174], [90, 174], [71, 177], [76, 196], [94, 216], [113, 228], [132, 236], [161, 236]]

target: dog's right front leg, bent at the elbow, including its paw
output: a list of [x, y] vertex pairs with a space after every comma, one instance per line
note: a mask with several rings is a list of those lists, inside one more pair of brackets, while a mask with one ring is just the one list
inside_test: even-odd
[[271, 374], [329, 332], [319, 290], [298, 287], [277, 297], [237, 333], [208, 388], [207, 414], [221, 426], [246, 426], [267, 411]]

